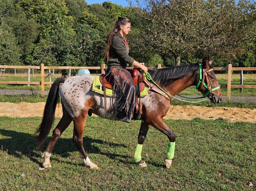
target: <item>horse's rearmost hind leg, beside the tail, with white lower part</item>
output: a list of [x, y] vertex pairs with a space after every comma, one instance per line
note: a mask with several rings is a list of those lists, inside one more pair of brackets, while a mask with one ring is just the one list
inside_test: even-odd
[[67, 113], [67, 111], [65, 109], [63, 109], [63, 116], [60, 119], [60, 121], [58, 122], [57, 126], [53, 129], [51, 140], [50, 140], [46, 150], [44, 151], [44, 153], [42, 155], [42, 157], [44, 158], [44, 163], [43, 163], [42, 166], [44, 168], [50, 168], [51, 167], [50, 156], [51, 156], [53, 147], [56, 144], [59, 137], [61, 136], [61, 134], [63, 133], [63, 131], [65, 131], [65, 129], [69, 126], [71, 121], [72, 121], [72, 118]]

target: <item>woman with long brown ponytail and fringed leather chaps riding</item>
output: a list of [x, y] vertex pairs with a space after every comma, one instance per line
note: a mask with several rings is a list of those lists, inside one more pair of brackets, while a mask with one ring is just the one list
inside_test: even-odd
[[144, 64], [135, 61], [129, 54], [129, 45], [124, 37], [130, 32], [131, 21], [126, 17], [118, 17], [112, 31], [107, 36], [106, 58], [111, 74], [112, 86], [117, 96], [118, 108], [116, 117], [130, 122], [133, 117], [135, 87], [130, 72], [126, 67], [133, 65], [147, 72]]

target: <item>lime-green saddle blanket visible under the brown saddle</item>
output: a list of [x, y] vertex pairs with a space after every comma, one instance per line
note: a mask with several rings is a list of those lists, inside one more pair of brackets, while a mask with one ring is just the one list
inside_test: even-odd
[[[103, 85], [100, 82], [100, 76], [94, 76], [93, 79], [93, 91], [98, 92], [104, 95]], [[140, 93], [140, 96], [146, 96], [148, 94], [147, 86], [145, 86], [144, 90]], [[113, 90], [106, 88], [106, 95], [113, 95]]]

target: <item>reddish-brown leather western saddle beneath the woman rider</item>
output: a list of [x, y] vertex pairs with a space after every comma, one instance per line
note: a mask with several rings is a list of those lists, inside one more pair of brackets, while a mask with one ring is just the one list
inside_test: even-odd
[[[140, 90], [140, 92], [142, 92], [145, 89], [145, 84], [143, 83], [144, 75], [142, 73], [140, 73], [139, 70], [140, 70], [139, 68], [134, 67], [134, 69], [128, 70], [128, 71], [131, 73], [135, 89], [138, 89], [138, 90]], [[110, 82], [110, 75], [107, 75], [107, 74], [100, 75], [100, 82], [102, 85], [103, 85], [103, 81], [104, 81], [104, 85], [106, 88], [113, 89], [113, 87], [111, 85], [112, 82]], [[136, 88], [136, 86], [138, 88]], [[139, 92], [136, 91], [136, 95], [138, 93]]]

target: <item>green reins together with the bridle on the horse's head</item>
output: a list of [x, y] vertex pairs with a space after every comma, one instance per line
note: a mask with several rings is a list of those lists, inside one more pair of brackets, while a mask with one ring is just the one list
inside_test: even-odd
[[[199, 64], [199, 66], [201, 66], [201, 65], [202, 65], [202, 64]], [[214, 70], [213, 68], [212, 68], [212, 69], [209, 69], [209, 70], [207, 70], [207, 71], [202, 70], [202, 68], [199, 69], [200, 80], [199, 80], [199, 82], [198, 82], [198, 84], [197, 84], [197, 86], [196, 86], [196, 89], [199, 91], [199, 86], [200, 86], [200, 84], [201, 84], [201, 87], [202, 87], [202, 86], [205, 86], [205, 87], [208, 89], [208, 92], [207, 92], [206, 94], [203, 94], [203, 93], [202, 93], [202, 94], [203, 94], [203, 97], [190, 98], [190, 97], [185, 97], [185, 96], [182, 96], [182, 95], [178, 95], [178, 96], [184, 97], [184, 98], [189, 98], [189, 99], [199, 99], [199, 98], [204, 98], [204, 97], [206, 97], [207, 95], [209, 95], [210, 93], [212, 93], [213, 91], [219, 89], [220, 86], [218, 86], [218, 87], [212, 89], [211, 84], [210, 84], [208, 78], [206, 78], [206, 80], [207, 80], [207, 85], [206, 85], [205, 82], [204, 82], [204, 81], [205, 81], [205, 76], [207, 77], [207, 72], [210, 72], [210, 71], [213, 71], [213, 70]], [[203, 72], [202, 72], [202, 71], [204, 71], [204, 75], [203, 75]], [[175, 98], [175, 99], [178, 99], [178, 100], [180, 100], [180, 101], [189, 102], [189, 103], [199, 103], [199, 102], [202, 102], [202, 101], [206, 101], [206, 100], [207, 100], [207, 99], [204, 99], [204, 100], [201, 100], [201, 101], [186, 101], [186, 100], [179, 99], [179, 98], [177, 98], [177, 97], [174, 97], [173, 95], [168, 94], [168, 93], [165, 92], [160, 86], [158, 86], [158, 85], [155, 83], [155, 81], [152, 79], [152, 77], [150, 76], [150, 74], [149, 74], [148, 72], [146, 73], [146, 78], [147, 78], [148, 81], [153, 82], [154, 85], [157, 86], [157, 88], [159, 88], [161, 91], [163, 91], [166, 95], [168, 95], [168, 96], [170, 96], [170, 97], [173, 97], [173, 98]], [[164, 95], [164, 96], [165, 96], [165, 95]], [[165, 96], [165, 97], [166, 97], [166, 96]], [[167, 98], [168, 98], [168, 97], [167, 97]], [[170, 102], [171, 102], [171, 99], [170, 99], [170, 98], [169, 98], [169, 100], [170, 100]]]

